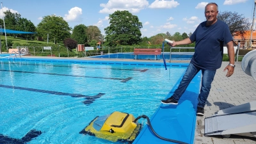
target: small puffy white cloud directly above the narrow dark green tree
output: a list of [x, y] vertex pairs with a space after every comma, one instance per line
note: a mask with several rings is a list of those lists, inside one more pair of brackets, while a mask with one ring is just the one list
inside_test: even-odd
[[81, 22], [83, 19], [80, 17], [80, 15], [82, 15], [82, 9], [75, 6], [74, 8], [68, 10], [68, 14], [65, 14], [63, 19], [67, 22]]

